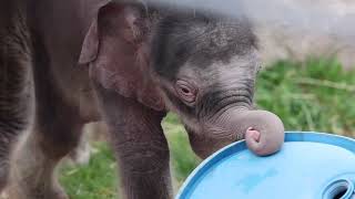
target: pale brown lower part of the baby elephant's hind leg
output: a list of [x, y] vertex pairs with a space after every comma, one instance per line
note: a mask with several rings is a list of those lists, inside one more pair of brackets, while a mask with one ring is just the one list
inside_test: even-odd
[[9, 199], [69, 199], [57, 181], [52, 159], [28, 138], [14, 150], [6, 193]]

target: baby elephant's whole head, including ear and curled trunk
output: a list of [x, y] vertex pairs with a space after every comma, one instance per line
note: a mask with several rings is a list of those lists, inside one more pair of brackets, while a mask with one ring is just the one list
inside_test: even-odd
[[109, 2], [80, 57], [103, 87], [155, 111], [172, 111], [194, 151], [206, 157], [242, 138], [256, 155], [277, 151], [284, 127], [253, 107], [261, 61], [245, 19]]

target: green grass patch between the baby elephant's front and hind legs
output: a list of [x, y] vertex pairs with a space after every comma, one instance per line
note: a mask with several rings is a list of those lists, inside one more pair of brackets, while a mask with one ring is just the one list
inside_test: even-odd
[[94, 153], [88, 166], [60, 169], [60, 182], [72, 199], [115, 198], [116, 165], [108, 145], [93, 145]]

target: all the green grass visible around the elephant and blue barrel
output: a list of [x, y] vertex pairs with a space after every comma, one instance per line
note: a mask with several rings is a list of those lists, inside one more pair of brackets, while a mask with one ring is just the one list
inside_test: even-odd
[[[257, 78], [256, 104], [277, 114], [287, 130], [317, 130], [355, 135], [355, 71], [343, 71], [335, 60], [281, 61]], [[200, 163], [175, 115], [164, 123], [178, 187]], [[60, 181], [72, 199], [115, 198], [115, 164], [104, 144], [90, 164], [61, 169]]]

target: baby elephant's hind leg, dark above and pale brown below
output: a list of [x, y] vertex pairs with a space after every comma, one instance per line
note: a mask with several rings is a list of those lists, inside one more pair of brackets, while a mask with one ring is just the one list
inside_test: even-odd
[[36, 59], [33, 67], [34, 124], [11, 158], [7, 189], [11, 199], [68, 198], [55, 179], [54, 169], [77, 147], [84, 125], [80, 105], [64, 97], [49, 67], [44, 66], [43, 56]]

